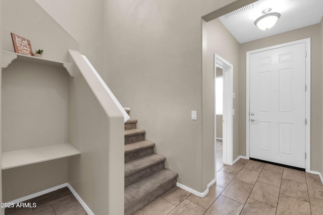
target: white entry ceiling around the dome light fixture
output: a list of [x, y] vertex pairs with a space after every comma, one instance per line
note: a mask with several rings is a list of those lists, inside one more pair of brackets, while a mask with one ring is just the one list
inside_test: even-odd
[[[323, 0], [259, 0], [253, 4], [254, 8], [248, 11], [219, 18], [239, 43], [314, 25], [320, 23], [323, 15]], [[281, 17], [273, 28], [262, 31], [254, 21], [266, 8], [272, 8], [270, 13], [278, 12]]]

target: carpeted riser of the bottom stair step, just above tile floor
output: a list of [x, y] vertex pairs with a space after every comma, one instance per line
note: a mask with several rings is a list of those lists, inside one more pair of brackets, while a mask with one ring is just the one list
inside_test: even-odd
[[152, 193], [147, 193], [147, 195], [144, 196], [144, 198], [140, 199], [139, 201], [133, 203], [129, 207], [125, 208], [125, 215], [133, 215], [138, 210], [158, 198], [159, 196], [163, 195], [170, 189], [176, 186], [176, 178], [172, 181], [168, 182], [164, 186], [158, 188], [157, 190], [153, 191]]

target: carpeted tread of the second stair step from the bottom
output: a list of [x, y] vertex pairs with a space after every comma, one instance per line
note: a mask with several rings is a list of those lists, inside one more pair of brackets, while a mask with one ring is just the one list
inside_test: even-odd
[[136, 172], [144, 170], [148, 167], [156, 165], [160, 162], [164, 162], [166, 158], [161, 155], [152, 154], [145, 156], [143, 158], [139, 158], [133, 161], [129, 161], [125, 163], [125, 177], [132, 175]]

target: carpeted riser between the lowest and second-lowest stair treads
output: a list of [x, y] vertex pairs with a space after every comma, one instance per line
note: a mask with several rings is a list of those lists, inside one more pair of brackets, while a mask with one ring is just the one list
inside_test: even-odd
[[146, 168], [144, 170], [141, 170], [139, 172], [131, 174], [131, 175], [125, 177], [125, 187], [130, 185], [130, 184], [133, 184], [136, 181], [139, 181], [139, 180], [141, 180], [141, 179], [143, 179], [143, 178], [145, 178], [145, 177], [147, 177], [147, 176], [149, 176], [151, 174], [154, 174], [155, 172], [158, 172], [158, 171], [160, 171], [160, 170], [162, 170], [164, 168], [165, 168], [165, 162], [163, 161], [163, 162], [155, 164], [155, 165], [153, 165], [151, 167], [148, 167], [148, 168]]

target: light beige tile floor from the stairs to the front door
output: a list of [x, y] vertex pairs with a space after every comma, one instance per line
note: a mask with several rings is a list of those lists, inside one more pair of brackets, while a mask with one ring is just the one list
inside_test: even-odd
[[136, 215], [323, 214], [318, 175], [246, 159], [224, 165], [217, 145], [217, 182], [204, 198], [174, 187]]

